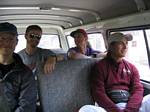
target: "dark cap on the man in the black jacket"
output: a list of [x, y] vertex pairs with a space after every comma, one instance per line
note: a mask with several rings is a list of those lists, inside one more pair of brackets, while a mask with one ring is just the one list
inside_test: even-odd
[[0, 32], [10, 32], [18, 35], [16, 26], [8, 22], [0, 23]]

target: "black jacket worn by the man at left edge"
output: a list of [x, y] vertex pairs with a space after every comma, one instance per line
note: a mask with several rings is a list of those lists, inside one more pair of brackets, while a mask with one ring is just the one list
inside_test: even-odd
[[[13, 56], [15, 59], [13, 69], [0, 79], [0, 110], [35, 112], [37, 88], [34, 76], [19, 55], [14, 53]], [[0, 68], [0, 75], [1, 73]]]

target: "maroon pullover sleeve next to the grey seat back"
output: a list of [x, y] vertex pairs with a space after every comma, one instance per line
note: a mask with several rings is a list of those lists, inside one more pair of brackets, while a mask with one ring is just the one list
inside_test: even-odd
[[123, 112], [120, 110], [115, 103], [113, 103], [110, 98], [107, 96], [105, 92], [105, 76], [106, 75], [103, 71], [104, 66], [96, 64], [93, 68], [92, 72], [92, 95], [94, 100], [98, 103], [100, 107], [103, 107], [107, 112]]

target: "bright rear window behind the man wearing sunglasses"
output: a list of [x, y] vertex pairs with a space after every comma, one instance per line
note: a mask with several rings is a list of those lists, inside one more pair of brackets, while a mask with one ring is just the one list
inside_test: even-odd
[[[26, 39], [24, 35], [19, 35], [18, 45], [16, 46], [15, 52], [19, 52], [25, 47], [26, 47]], [[60, 41], [58, 35], [42, 35], [38, 47], [44, 49], [60, 49]]]

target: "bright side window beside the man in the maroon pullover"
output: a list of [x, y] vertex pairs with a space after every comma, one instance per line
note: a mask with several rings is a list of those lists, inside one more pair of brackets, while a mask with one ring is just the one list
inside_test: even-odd
[[[123, 33], [130, 33], [133, 36], [133, 40], [128, 43], [126, 58], [137, 67], [140, 79], [150, 81], [150, 68], [143, 30], [123, 31]], [[150, 30], [147, 30], [147, 37], [150, 38]]]

